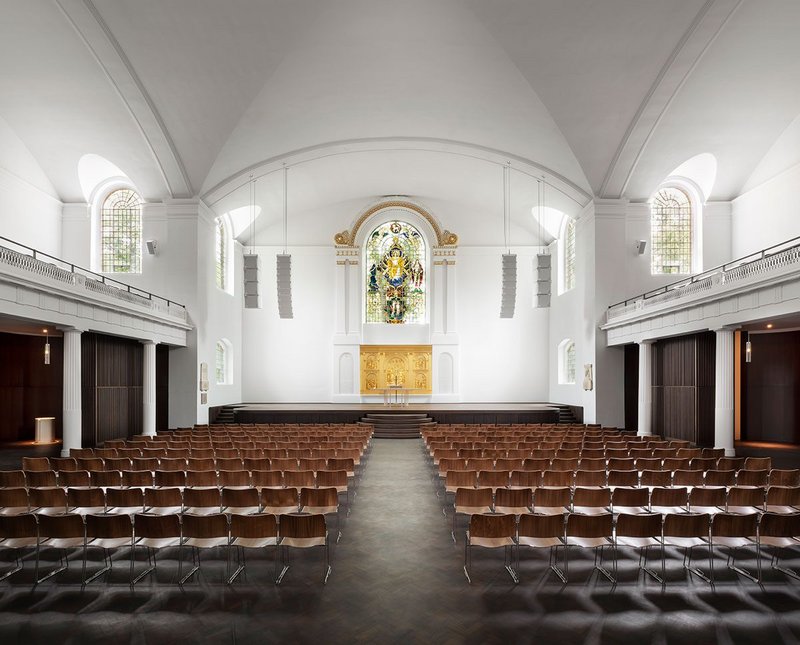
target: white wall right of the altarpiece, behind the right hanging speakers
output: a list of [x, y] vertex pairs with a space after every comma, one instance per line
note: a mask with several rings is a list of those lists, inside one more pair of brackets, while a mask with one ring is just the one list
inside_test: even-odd
[[548, 311], [533, 307], [538, 247], [517, 254], [514, 317], [500, 318], [499, 247], [458, 249], [456, 263], [459, 381], [462, 401], [546, 401]]

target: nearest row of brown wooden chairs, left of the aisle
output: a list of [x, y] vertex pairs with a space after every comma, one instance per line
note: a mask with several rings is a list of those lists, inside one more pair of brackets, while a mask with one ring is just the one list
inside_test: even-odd
[[[145, 571], [135, 574], [136, 548], [144, 547], [148, 552]], [[189, 548], [192, 554], [192, 568], [183, 574], [183, 550]], [[288, 570], [289, 548], [322, 547], [325, 551], [325, 571], [323, 583], [331, 573], [328, 529], [324, 514], [225, 514], [194, 515], [190, 513], [170, 513], [149, 515], [108, 515], [67, 513], [63, 515], [35, 515], [31, 513], [15, 516], [0, 516], [0, 550], [14, 552], [15, 565], [0, 577], [8, 578], [22, 571], [20, 556], [24, 549], [35, 550], [34, 579], [39, 584], [66, 570], [69, 559], [66, 552], [75, 549], [83, 551], [82, 583], [86, 585], [103, 574], [110, 572], [112, 560], [110, 551], [128, 548], [130, 550], [130, 586], [156, 571], [156, 552], [167, 548], [178, 549], [178, 584], [185, 584], [200, 570], [200, 549], [227, 547], [237, 553], [238, 567], [230, 573], [230, 558], [227, 560], [227, 583], [231, 584], [245, 569], [245, 549], [264, 549], [274, 547], [283, 552], [282, 571], [278, 574], [279, 553], [274, 556], [276, 584], [283, 579]], [[54, 548], [62, 553], [61, 565], [39, 577], [40, 555], [44, 549]], [[103, 567], [87, 576], [87, 554], [90, 548], [103, 550]]]

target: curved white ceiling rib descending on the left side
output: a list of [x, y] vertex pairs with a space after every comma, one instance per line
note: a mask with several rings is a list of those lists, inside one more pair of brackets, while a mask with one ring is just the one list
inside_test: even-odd
[[114, 87], [142, 134], [170, 197], [194, 194], [166, 124], [119, 41], [92, 0], [55, 0]]

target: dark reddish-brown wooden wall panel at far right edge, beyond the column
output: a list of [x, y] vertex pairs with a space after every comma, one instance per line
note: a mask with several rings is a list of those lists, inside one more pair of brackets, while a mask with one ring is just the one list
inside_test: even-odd
[[742, 439], [800, 443], [800, 332], [750, 334], [742, 363]]

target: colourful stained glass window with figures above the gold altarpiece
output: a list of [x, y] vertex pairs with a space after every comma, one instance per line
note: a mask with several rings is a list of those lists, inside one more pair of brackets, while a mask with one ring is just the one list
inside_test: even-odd
[[367, 239], [366, 322], [425, 322], [425, 240], [405, 222], [387, 222]]

